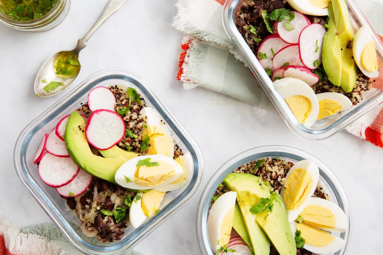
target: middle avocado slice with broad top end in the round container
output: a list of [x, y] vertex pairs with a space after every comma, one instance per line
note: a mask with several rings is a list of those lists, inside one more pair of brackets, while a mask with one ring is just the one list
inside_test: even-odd
[[[242, 177], [242, 175], [244, 176]], [[257, 183], [254, 184], [252, 177], [249, 177], [248, 175], [255, 177], [254, 175], [247, 173], [229, 173], [223, 180], [223, 183], [229, 188], [229, 190], [237, 192], [238, 205], [241, 209], [242, 219], [246, 225], [247, 233], [249, 234], [251, 246], [254, 248], [254, 254], [268, 255], [270, 254], [270, 240], [259, 224], [255, 221], [256, 215], [249, 211], [250, 207], [258, 202], [260, 198], [250, 195], [250, 190], [252, 189], [247, 191], [245, 189], [249, 185], [258, 186], [259, 183], [257, 181]], [[264, 195], [270, 195], [270, 192], [265, 191]]]

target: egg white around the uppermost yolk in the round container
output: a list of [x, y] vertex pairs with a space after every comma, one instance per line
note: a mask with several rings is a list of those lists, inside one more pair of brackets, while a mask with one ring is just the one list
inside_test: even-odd
[[[314, 163], [311, 160], [301, 160], [301, 161], [295, 163], [293, 165], [293, 167], [291, 167], [290, 170], [288, 171], [288, 173], [286, 174], [286, 180], [288, 179], [288, 177], [290, 177], [291, 173], [294, 172], [294, 170], [298, 169], [298, 168], [306, 169], [306, 171], [311, 174], [311, 177], [313, 178], [313, 187], [309, 191], [308, 198], [305, 201], [303, 201], [303, 203], [301, 204], [300, 207], [293, 209], [293, 210], [286, 208], [287, 217], [288, 217], [289, 222], [295, 221], [296, 217], [298, 217], [298, 215], [303, 211], [304, 207], [308, 203], [309, 198], [314, 194], [314, 191], [315, 191], [316, 186], [318, 185], [318, 181], [319, 181], [319, 168], [316, 165], [316, 163]], [[283, 198], [283, 193], [284, 193], [283, 191], [285, 189], [286, 189], [285, 186], [282, 186], [282, 189], [280, 190], [280, 195], [282, 196], [282, 198]]]

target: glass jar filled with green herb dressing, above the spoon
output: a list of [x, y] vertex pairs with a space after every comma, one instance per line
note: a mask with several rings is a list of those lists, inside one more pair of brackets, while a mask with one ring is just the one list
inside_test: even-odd
[[23, 31], [42, 32], [67, 16], [70, 0], [0, 0], [0, 21]]

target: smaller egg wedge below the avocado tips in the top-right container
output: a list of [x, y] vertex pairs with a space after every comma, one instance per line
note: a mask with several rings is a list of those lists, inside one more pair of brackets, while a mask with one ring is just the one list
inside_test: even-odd
[[350, 99], [336, 92], [325, 92], [316, 94], [319, 102], [318, 119], [323, 119], [346, 110], [352, 106]]

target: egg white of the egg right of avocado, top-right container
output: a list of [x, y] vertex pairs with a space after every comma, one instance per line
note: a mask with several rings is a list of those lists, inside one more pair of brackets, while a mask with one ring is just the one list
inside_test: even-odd
[[352, 55], [354, 55], [355, 63], [357, 63], [363, 74], [370, 78], [377, 78], [379, 77], [379, 70], [376, 70], [375, 72], [367, 71], [362, 66], [361, 62], [363, 49], [370, 43], [370, 41], [372, 41], [372, 36], [368, 26], [366, 25], [359, 28], [355, 34], [354, 42], [352, 43]]

